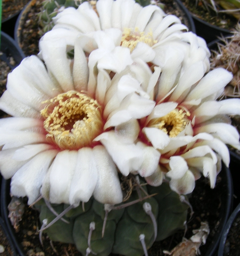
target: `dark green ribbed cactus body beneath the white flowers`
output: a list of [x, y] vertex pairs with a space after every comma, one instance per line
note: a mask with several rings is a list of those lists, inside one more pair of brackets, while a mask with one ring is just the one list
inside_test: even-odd
[[[106, 212], [104, 205], [90, 199], [89, 202], [80, 204], [71, 209], [64, 215], [64, 219], [69, 224], [58, 220], [51, 227], [44, 230], [53, 241], [74, 243], [77, 249], [86, 254], [87, 248], [91, 252], [89, 255], [107, 256], [110, 253], [116, 253], [126, 256], [142, 256], [144, 254], [142, 244], [139, 241], [141, 234], [145, 235], [145, 244], [149, 249], [154, 240], [154, 225], [150, 215], [143, 209], [144, 203], [149, 203], [151, 212], [156, 218], [157, 234], [156, 241], [165, 239], [176, 230], [184, 228], [184, 222], [187, 217], [187, 204], [181, 203], [179, 195], [171, 191], [167, 183], [159, 187], [142, 186], [144, 191], [134, 190], [130, 198], [118, 206], [112, 206], [113, 209], [107, 212], [107, 221], [105, 223], [104, 236], [102, 233], [104, 218]], [[121, 208], [122, 205], [146, 197], [146, 194], [154, 195], [145, 200], [140, 200], [135, 204]], [[52, 205], [56, 212], [61, 213], [69, 205]], [[45, 204], [38, 204], [40, 209], [40, 221], [47, 218], [50, 223], [55, 215], [46, 207]], [[116, 209], [117, 208], [117, 209]], [[118, 209], [121, 208], [121, 209]], [[91, 223], [95, 224], [92, 230], [89, 244], [89, 234]]]

